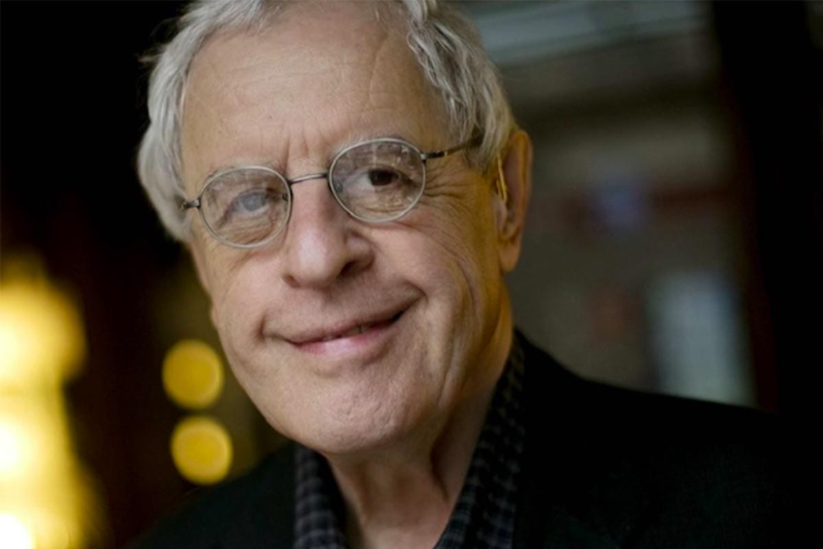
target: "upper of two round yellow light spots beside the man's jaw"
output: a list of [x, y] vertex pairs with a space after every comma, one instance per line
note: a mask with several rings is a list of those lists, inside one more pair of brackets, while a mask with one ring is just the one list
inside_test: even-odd
[[204, 342], [184, 340], [166, 353], [163, 387], [179, 406], [200, 410], [212, 405], [223, 389], [223, 366]]

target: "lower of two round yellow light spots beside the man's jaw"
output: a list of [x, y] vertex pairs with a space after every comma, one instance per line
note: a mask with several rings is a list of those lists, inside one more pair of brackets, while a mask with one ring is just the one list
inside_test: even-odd
[[231, 437], [226, 428], [212, 418], [190, 416], [174, 427], [171, 457], [180, 474], [189, 481], [213, 484], [229, 472]]

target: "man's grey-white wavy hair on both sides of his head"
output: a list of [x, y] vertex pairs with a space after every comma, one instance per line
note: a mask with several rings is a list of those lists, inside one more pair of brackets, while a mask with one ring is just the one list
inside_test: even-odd
[[[148, 88], [149, 126], [137, 155], [143, 188], [166, 230], [184, 240], [188, 217], [182, 179], [181, 120], [189, 68], [202, 45], [217, 32], [264, 30], [283, 2], [272, 0], [196, 0], [178, 21], [178, 33], [155, 57]], [[402, 0], [407, 44], [421, 70], [440, 92], [453, 137], [465, 142], [481, 136], [468, 153], [486, 169], [504, 147], [514, 119], [500, 77], [474, 26], [437, 0]]]

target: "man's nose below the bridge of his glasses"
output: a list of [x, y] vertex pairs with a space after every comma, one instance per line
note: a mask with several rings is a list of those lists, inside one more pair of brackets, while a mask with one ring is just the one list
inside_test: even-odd
[[337, 204], [326, 179], [306, 180], [292, 188], [286, 226], [283, 279], [289, 286], [326, 288], [367, 268], [373, 258], [357, 223]]

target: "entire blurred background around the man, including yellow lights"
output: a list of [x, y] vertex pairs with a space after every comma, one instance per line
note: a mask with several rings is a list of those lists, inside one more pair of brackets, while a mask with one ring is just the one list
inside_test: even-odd
[[[535, 143], [524, 333], [593, 379], [800, 419], [823, 3], [460, 3]], [[0, 4], [2, 547], [123, 547], [282, 442], [133, 170], [140, 59], [181, 6]]]

